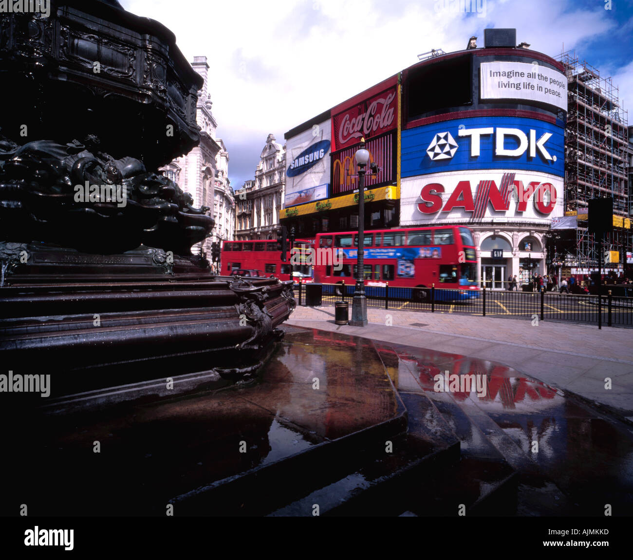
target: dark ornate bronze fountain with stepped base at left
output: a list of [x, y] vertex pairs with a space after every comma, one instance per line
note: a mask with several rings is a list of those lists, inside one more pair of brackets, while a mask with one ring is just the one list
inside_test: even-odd
[[170, 30], [115, 0], [51, 0], [0, 19], [0, 80], [7, 363], [107, 369], [275, 337], [291, 282], [214, 277], [191, 253], [209, 208], [157, 171], [199, 142], [203, 81]]

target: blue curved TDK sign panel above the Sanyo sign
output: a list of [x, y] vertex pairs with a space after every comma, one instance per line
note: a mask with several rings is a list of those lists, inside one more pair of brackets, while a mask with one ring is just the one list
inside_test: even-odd
[[462, 118], [402, 131], [401, 177], [509, 169], [564, 177], [563, 128], [520, 117]]

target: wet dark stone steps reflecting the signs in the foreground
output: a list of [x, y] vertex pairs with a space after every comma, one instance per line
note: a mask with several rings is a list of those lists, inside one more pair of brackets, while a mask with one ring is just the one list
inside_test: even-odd
[[[574, 395], [483, 359], [284, 331], [248, 384], [14, 419], [5, 504], [44, 516], [633, 511], [629, 426]], [[34, 484], [44, 466], [53, 483]]]

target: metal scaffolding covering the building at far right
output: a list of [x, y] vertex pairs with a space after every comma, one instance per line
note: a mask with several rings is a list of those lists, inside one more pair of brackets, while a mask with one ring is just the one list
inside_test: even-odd
[[[565, 213], [578, 216], [575, 254], [558, 254], [567, 266], [598, 266], [598, 240], [589, 233], [589, 200], [613, 197], [613, 215], [630, 217], [628, 113], [620, 104], [618, 87], [603, 78], [586, 61], [568, 51], [556, 57], [567, 75], [567, 127], [565, 129]], [[620, 220], [617, 220], [618, 223]], [[622, 220], [623, 226], [628, 220]], [[605, 251], [619, 251], [626, 268], [631, 251], [630, 228], [614, 227], [605, 235]], [[617, 268], [617, 264], [608, 264]]]

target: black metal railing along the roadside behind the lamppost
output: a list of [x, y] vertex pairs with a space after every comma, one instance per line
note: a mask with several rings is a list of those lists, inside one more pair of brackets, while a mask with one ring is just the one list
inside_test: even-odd
[[[531, 286], [530, 286], [531, 287]], [[601, 297], [602, 323], [608, 327], [633, 327], [633, 297], [567, 294], [546, 290], [489, 290], [463, 288], [404, 288], [386, 285], [365, 287], [367, 307], [394, 311], [467, 313], [488, 317], [526, 317], [532, 320], [598, 324], [598, 297]], [[305, 287], [295, 284], [298, 305], [305, 302]], [[322, 284], [322, 305], [337, 301], [351, 303], [354, 285]]]

